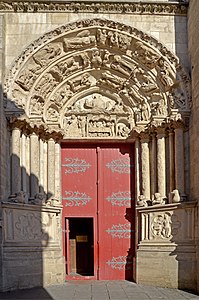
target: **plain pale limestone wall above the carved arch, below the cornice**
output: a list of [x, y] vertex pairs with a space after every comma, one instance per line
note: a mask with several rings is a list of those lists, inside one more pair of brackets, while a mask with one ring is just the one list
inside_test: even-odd
[[139, 15], [117, 13], [7, 13], [6, 69], [22, 50], [42, 34], [68, 22], [86, 18], [106, 18], [135, 27], [156, 38], [182, 59], [186, 68], [187, 30], [186, 16]]

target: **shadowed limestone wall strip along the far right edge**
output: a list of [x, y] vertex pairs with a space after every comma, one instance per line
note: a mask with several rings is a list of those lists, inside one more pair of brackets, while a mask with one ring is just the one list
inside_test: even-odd
[[[192, 116], [190, 124], [190, 173], [191, 173], [191, 197], [199, 201], [199, 1], [191, 0], [189, 6], [188, 34], [189, 34], [189, 54], [192, 66]], [[199, 210], [199, 209], [198, 209]], [[199, 261], [199, 225], [198, 213], [196, 212], [196, 245], [197, 245], [197, 262]], [[197, 289], [199, 290], [199, 264], [197, 266]]]

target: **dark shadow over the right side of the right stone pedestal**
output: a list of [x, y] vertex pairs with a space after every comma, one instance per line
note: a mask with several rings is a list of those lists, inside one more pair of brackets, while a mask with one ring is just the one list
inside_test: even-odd
[[[182, 290], [196, 291], [197, 268], [194, 241], [194, 206], [191, 203], [184, 203], [184, 207], [177, 209], [171, 215], [171, 227], [168, 225], [168, 232], [171, 234], [171, 243], [175, 250], [170, 253], [175, 257], [175, 268], [177, 273], [177, 287]], [[165, 226], [167, 228], [167, 226]], [[169, 232], [171, 230], [171, 232]]]

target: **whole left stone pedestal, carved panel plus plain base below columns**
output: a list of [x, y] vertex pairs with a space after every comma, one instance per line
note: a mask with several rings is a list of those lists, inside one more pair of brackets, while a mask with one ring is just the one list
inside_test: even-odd
[[64, 281], [61, 207], [2, 203], [3, 290]]

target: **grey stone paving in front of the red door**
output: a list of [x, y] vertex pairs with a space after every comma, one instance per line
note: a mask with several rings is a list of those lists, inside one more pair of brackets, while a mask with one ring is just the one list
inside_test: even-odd
[[127, 299], [199, 299], [199, 296], [175, 289], [151, 287], [128, 281], [73, 281], [59, 286], [0, 293], [0, 299], [15, 300], [127, 300]]

